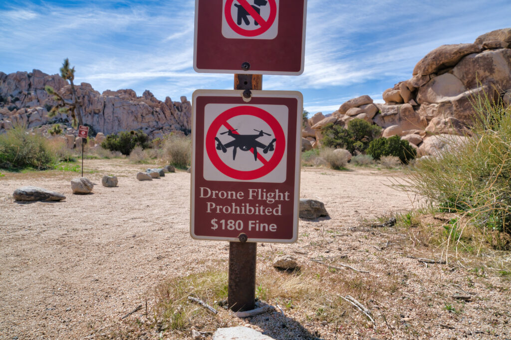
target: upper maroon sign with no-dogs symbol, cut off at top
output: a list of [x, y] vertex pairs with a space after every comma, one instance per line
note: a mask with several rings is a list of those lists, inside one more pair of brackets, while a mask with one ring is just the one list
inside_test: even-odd
[[307, 0], [196, 0], [194, 69], [300, 75]]

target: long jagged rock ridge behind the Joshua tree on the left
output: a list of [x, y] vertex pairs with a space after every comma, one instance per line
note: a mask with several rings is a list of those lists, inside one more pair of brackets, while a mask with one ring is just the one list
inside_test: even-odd
[[[67, 123], [66, 115], [49, 118], [48, 111], [55, 102], [45, 90], [50, 85], [67, 100], [71, 99], [71, 85], [59, 75], [47, 75], [39, 70], [31, 73], [0, 72], [0, 133], [16, 124], [29, 128], [51, 123]], [[131, 89], [106, 90], [102, 94], [88, 83], [76, 86], [83, 103], [84, 124], [105, 135], [119, 131], [142, 129], [154, 139], [175, 131], [189, 133], [192, 106], [186, 97], [173, 102], [157, 100], [146, 90], [137, 97]]]

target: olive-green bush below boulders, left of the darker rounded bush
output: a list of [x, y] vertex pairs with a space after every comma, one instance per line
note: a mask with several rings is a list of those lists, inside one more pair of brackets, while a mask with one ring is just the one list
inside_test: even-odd
[[348, 123], [347, 129], [340, 125], [328, 124], [321, 129], [322, 145], [336, 149], [346, 149], [352, 154], [364, 152], [369, 143], [381, 133], [381, 127], [355, 118]]

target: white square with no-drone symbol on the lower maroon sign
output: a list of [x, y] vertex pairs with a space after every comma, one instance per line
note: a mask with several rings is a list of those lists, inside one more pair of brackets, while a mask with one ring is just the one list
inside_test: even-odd
[[247, 182], [285, 182], [289, 115], [285, 105], [207, 104], [204, 149], [210, 139], [216, 148], [204, 153], [204, 179], [237, 182], [232, 173], [244, 172], [256, 177]]

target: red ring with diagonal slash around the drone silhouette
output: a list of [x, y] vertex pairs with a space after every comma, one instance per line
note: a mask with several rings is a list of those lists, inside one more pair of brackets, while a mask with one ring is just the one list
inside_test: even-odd
[[[269, 161], [262, 161], [263, 166], [250, 171], [237, 170], [226, 165], [218, 155], [216, 145], [215, 145], [215, 137], [218, 134], [218, 131], [222, 126], [226, 126], [227, 129], [230, 128], [230, 124], [227, 122], [229, 119], [237, 116], [253, 116], [263, 120], [266, 124], [268, 124], [273, 132], [273, 136], [276, 139], [275, 141], [275, 150], [273, 155], [271, 156]], [[284, 130], [278, 121], [273, 117], [269, 112], [263, 110], [262, 108], [255, 106], [236, 106], [230, 108], [222, 114], [220, 114], [213, 123], [211, 123], [210, 128], [206, 133], [206, 152], [208, 157], [210, 158], [211, 163], [224, 175], [240, 180], [251, 180], [261, 178], [267, 174], [269, 174], [273, 169], [277, 167], [278, 164], [281, 163], [282, 157], [284, 156], [284, 151], [286, 149], [286, 137], [284, 135]], [[262, 156], [259, 154], [258, 158]], [[261, 160], [261, 158], [259, 158]], [[264, 159], [264, 158], [262, 158]]]

